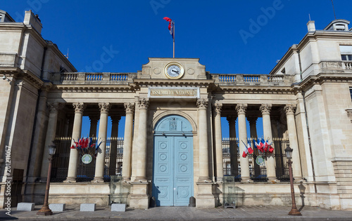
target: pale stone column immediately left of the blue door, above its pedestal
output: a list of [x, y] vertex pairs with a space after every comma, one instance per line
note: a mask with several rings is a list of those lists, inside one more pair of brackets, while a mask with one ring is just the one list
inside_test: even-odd
[[[148, 119], [148, 107], [149, 100], [146, 98], [139, 98], [139, 131], [138, 131], [138, 142], [137, 142], [137, 171], [135, 182], [146, 182], [146, 147], [147, 147], [147, 119]], [[124, 168], [125, 165], [122, 166]]]

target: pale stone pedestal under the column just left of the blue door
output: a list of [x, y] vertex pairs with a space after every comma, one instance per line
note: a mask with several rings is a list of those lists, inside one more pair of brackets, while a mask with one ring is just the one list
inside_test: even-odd
[[148, 182], [132, 182], [130, 194], [131, 208], [146, 209], [149, 207], [148, 186]]

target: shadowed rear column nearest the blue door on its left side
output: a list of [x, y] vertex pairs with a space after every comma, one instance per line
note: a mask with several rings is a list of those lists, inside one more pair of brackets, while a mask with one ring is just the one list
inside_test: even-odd
[[111, 116], [111, 141], [110, 141], [110, 160], [109, 175], [116, 174], [116, 158], [118, 157], [118, 123], [121, 116]]

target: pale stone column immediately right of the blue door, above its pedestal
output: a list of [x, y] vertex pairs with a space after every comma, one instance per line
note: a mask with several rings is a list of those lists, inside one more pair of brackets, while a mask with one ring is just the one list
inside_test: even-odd
[[208, 99], [198, 99], [197, 106], [199, 109], [199, 182], [210, 182], [209, 161], [208, 161], [208, 121], [206, 109]]

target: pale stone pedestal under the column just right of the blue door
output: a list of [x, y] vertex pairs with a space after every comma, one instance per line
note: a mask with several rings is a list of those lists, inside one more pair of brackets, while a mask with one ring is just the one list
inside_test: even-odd
[[197, 182], [196, 208], [214, 208], [213, 183]]

